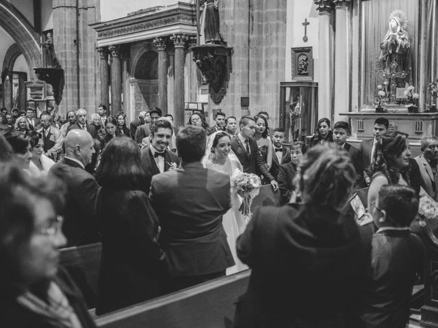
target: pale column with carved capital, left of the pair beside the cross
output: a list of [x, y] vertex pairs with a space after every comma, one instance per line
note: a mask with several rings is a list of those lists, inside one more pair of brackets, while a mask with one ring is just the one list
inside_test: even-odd
[[[331, 13], [334, 5], [331, 0], [314, 0], [320, 13], [318, 25], [318, 119], [333, 120], [333, 27]], [[345, 51], [345, 49], [344, 49]]]

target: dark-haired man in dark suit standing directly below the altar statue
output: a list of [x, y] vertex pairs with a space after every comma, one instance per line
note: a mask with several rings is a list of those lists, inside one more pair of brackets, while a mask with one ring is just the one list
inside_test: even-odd
[[359, 146], [355, 163], [357, 173], [356, 185], [359, 188], [365, 188], [371, 183], [371, 177], [364, 170], [370, 166], [374, 150], [376, 149], [376, 143], [388, 128], [389, 121], [386, 118], [376, 118], [374, 121], [374, 138], [363, 140], [361, 146]]

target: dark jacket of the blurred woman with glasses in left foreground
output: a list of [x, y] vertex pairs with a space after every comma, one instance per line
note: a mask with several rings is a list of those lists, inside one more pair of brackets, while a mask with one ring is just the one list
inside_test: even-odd
[[[75, 314], [83, 328], [95, 328], [96, 325], [88, 313], [86, 304], [82, 299], [81, 292], [70, 279], [66, 271], [60, 268], [53, 282], [64, 292], [68, 303], [75, 311]], [[0, 295], [0, 327], [14, 328], [56, 328], [41, 316], [24, 308], [15, 300], [16, 293], [2, 292]]]

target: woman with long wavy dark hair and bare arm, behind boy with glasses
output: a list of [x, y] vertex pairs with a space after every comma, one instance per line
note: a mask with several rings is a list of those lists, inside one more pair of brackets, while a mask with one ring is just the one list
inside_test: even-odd
[[376, 151], [368, 169], [372, 177], [368, 190], [368, 212], [377, 198], [378, 191], [385, 184], [410, 185], [409, 180], [409, 139], [406, 133], [388, 131], [376, 143]]

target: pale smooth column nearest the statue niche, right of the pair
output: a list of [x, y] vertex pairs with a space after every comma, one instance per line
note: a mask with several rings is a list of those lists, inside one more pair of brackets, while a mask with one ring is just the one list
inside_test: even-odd
[[333, 124], [338, 120], [348, 122], [339, 113], [350, 111], [350, 0], [334, 0], [335, 22], [335, 107]]

